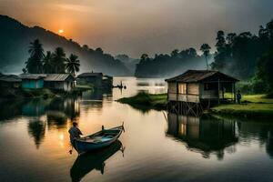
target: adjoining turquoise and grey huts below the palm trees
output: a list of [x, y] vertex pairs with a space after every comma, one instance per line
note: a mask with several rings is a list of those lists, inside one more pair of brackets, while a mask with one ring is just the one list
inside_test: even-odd
[[51, 88], [71, 91], [75, 86], [75, 77], [71, 74], [22, 74], [23, 88]]

